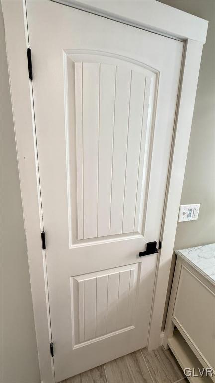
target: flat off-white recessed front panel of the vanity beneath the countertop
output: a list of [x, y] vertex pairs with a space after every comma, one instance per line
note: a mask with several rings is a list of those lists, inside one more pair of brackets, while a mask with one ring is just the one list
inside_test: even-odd
[[173, 317], [215, 368], [215, 294], [182, 265]]

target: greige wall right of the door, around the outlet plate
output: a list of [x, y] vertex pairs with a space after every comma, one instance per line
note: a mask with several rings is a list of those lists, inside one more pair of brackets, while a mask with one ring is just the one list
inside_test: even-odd
[[[175, 249], [215, 242], [215, 1], [161, 1], [209, 21], [196, 94], [181, 204], [200, 203], [197, 221], [178, 222]], [[175, 266], [173, 254], [163, 328]]]

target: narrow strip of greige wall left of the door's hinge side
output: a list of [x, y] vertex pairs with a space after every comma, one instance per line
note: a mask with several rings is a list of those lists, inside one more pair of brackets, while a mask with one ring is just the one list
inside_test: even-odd
[[37, 383], [40, 372], [24, 232], [2, 12], [1, 383]]

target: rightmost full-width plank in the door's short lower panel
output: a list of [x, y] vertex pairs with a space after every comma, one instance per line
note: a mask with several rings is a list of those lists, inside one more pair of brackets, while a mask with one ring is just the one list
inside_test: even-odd
[[122, 329], [126, 326], [128, 316], [130, 270], [121, 271], [119, 278], [119, 296], [118, 296], [118, 318], [117, 328]]

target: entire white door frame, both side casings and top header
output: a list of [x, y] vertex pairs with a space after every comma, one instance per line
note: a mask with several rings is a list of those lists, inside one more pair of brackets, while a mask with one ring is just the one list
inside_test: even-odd
[[[178, 210], [183, 186], [191, 123], [193, 117], [202, 47], [208, 21], [174, 9], [158, 1], [58, 1], [142, 29], [184, 41], [184, 56], [175, 116], [166, 200], [151, 311], [148, 348], [160, 344]], [[28, 249], [31, 292], [39, 355], [41, 381], [53, 383], [54, 366], [50, 356], [51, 326], [45, 250], [33, 117], [32, 84], [28, 77], [26, 48], [29, 46], [25, 1], [2, 1], [10, 89], [15, 126], [23, 214]], [[19, 42], [17, 44], [17, 41]], [[32, 61], [33, 61], [32, 52]]]

